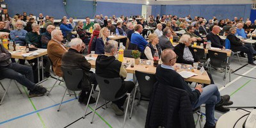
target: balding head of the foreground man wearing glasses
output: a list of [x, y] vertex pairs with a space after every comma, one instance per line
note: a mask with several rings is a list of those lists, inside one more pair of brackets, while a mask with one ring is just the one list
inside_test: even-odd
[[[163, 61], [164, 65], [170, 65], [170, 60], [172, 60], [176, 56], [177, 55], [172, 49], [164, 49], [161, 53], [161, 60]], [[175, 64], [175, 62], [173, 63], [173, 65]]]

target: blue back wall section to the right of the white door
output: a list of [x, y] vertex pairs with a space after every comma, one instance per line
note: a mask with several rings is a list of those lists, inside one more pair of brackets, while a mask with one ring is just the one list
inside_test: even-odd
[[[200, 16], [206, 19], [212, 19], [214, 16], [217, 17], [217, 19], [234, 19], [234, 17], [243, 17], [246, 19], [250, 17], [250, 11], [251, 4], [195, 4], [166, 5], [165, 13], [161, 14], [178, 15], [178, 17], [186, 17], [190, 14], [191, 17]], [[159, 12], [154, 12], [153, 14], [157, 13]]]

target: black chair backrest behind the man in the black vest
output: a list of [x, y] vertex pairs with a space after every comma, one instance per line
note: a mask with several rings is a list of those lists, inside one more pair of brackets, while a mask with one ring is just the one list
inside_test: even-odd
[[96, 75], [96, 80], [100, 88], [100, 95], [104, 100], [115, 101], [122, 97], [115, 97], [116, 93], [122, 86], [122, 79], [118, 78], [106, 78]]

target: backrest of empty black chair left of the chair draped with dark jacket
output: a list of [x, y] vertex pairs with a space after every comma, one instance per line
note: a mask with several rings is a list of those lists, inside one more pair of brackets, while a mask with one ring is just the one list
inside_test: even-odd
[[144, 72], [140, 72], [138, 70], [135, 71], [135, 75], [139, 83], [141, 95], [143, 97], [150, 98], [150, 94], [152, 92], [153, 86], [156, 83], [156, 75], [147, 74]]

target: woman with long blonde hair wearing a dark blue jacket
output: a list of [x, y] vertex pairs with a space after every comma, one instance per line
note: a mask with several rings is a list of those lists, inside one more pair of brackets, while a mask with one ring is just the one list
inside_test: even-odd
[[99, 38], [96, 40], [95, 54], [104, 54], [104, 45], [109, 40], [109, 33], [110, 32], [106, 27], [100, 29]]

